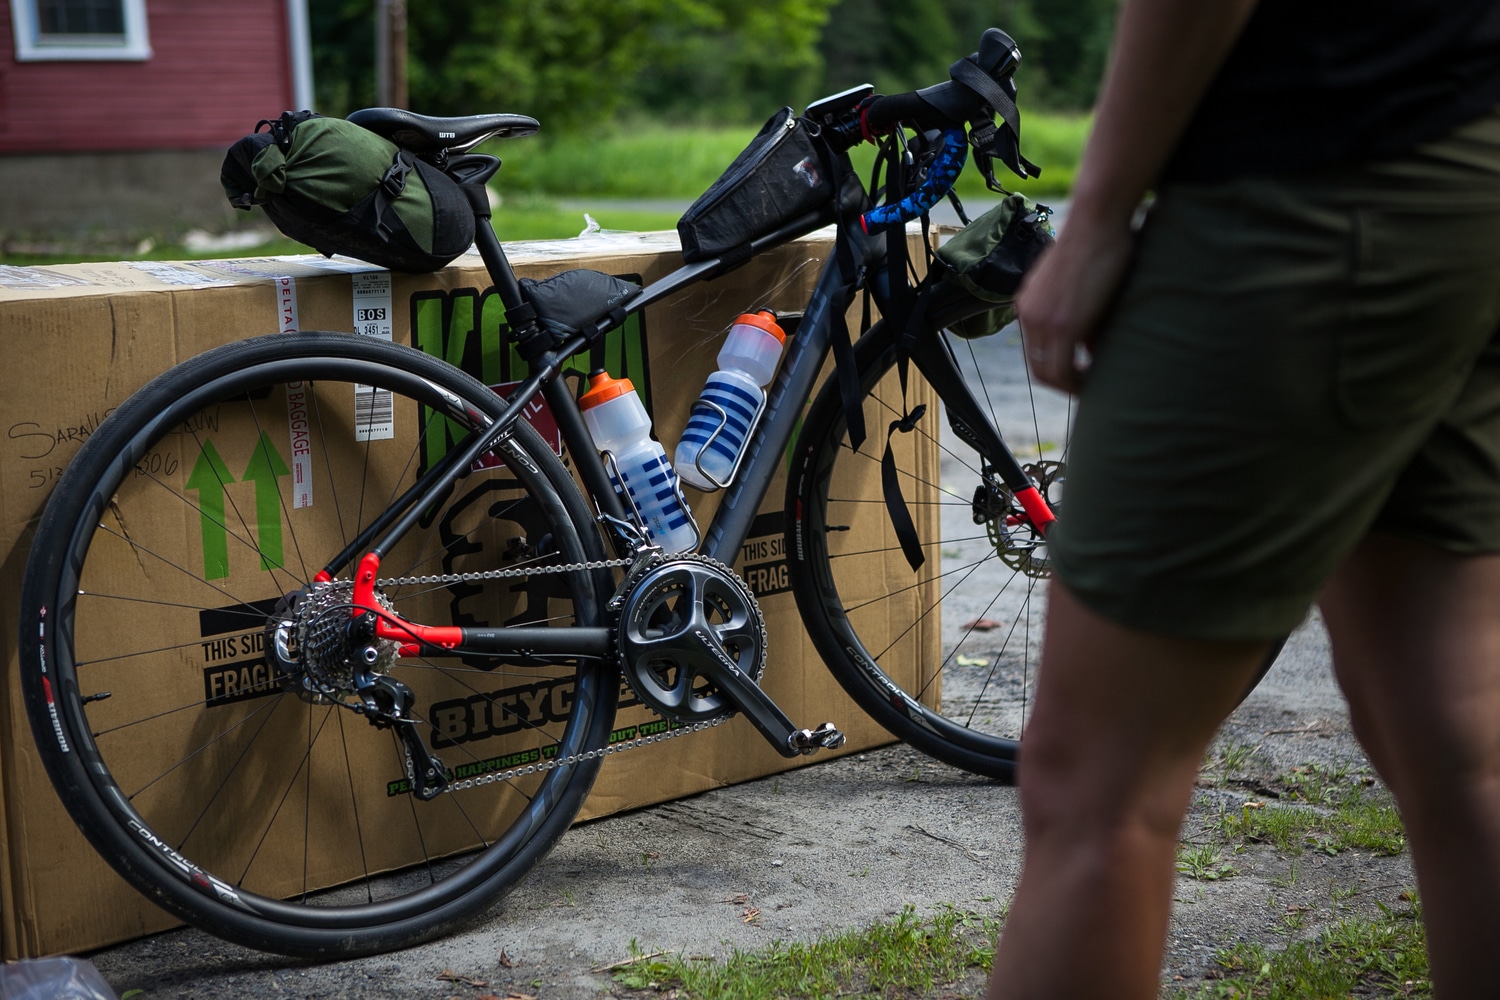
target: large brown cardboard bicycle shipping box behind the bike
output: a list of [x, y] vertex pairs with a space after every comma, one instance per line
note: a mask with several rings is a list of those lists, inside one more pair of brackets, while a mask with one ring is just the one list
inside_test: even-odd
[[[692, 400], [714, 367], [720, 337], [730, 319], [753, 307], [783, 312], [801, 309], [830, 249], [830, 235], [814, 234], [756, 258], [726, 277], [651, 306], [622, 331], [610, 334], [596, 349], [591, 361], [603, 363], [614, 375], [634, 381], [646, 397], [657, 433], [670, 453], [676, 433], [687, 421]], [[544, 277], [573, 267], [591, 267], [644, 283], [663, 277], [681, 261], [675, 234], [512, 244], [507, 252], [522, 276]], [[4, 438], [0, 441], [0, 448], [4, 448], [4, 462], [0, 463], [0, 553], [4, 558], [0, 621], [6, 622], [0, 628], [0, 651], [8, 664], [4, 681], [0, 682], [6, 721], [0, 741], [4, 795], [0, 846], [6, 862], [0, 868], [0, 946], [6, 958], [84, 951], [158, 931], [174, 922], [116, 877], [78, 834], [38, 760], [21, 703], [12, 631], [18, 616], [20, 580], [36, 519], [80, 444], [114, 406], [172, 364], [219, 343], [278, 330], [344, 330], [390, 336], [460, 364], [489, 385], [502, 387], [519, 381], [519, 360], [504, 342], [501, 309], [488, 291], [488, 283], [474, 256], [460, 258], [444, 271], [426, 276], [392, 276], [369, 265], [316, 256], [0, 267], [0, 330], [12, 385], [12, 391], [0, 396], [4, 427]], [[586, 363], [580, 364], [586, 367]], [[288, 415], [288, 426], [291, 420]], [[393, 439], [399, 444], [404, 429], [414, 423], [412, 414], [393, 414]], [[285, 429], [276, 429], [270, 439], [278, 441], [280, 438], [276, 435], [285, 433]], [[214, 418], [208, 427], [206, 418], [206, 427], [183, 430], [182, 454], [164, 448], [148, 457], [160, 465], [153, 474], [166, 478], [189, 475], [194, 462], [206, 460], [208, 448], [204, 441], [210, 441], [213, 451], [224, 456], [226, 468], [234, 469], [243, 466], [246, 456], [255, 454], [258, 447], [255, 432], [246, 421], [219, 423]], [[922, 460], [936, 468], [936, 456], [922, 456]], [[872, 496], [879, 496], [879, 463], [872, 462], [870, 466], [868, 490]], [[387, 472], [393, 489], [411, 481], [406, 466], [392, 465]], [[312, 490], [316, 496], [332, 496], [340, 475], [340, 469], [315, 471]], [[228, 478], [238, 480], [232, 489], [243, 490], [240, 504], [255, 502], [252, 490], [260, 489], [260, 483], [249, 483], [252, 477], [248, 471], [228, 472]], [[770, 655], [765, 688], [798, 724], [834, 721], [840, 726], [849, 736], [846, 753], [888, 742], [890, 736], [852, 705], [824, 669], [796, 616], [780, 550], [783, 478], [784, 471], [771, 484], [753, 537], [746, 541], [736, 564], [766, 615]], [[291, 477], [273, 477], [282, 490], [291, 489], [290, 480]], [[692, 490], [688, 498], [699, 523], [706, 525], [716, 498]], [[336, 529], [327, 520], [334, 516], [333, 505], [327, 502], [314, 502], [306, 511], [292, 511], [284, 498], [279, 507], [272, 505], [272, 511], [280, 511], [273, 517], [274, 531], [282, 529], [284, 519], [288, 531], [302, 531], [304, 535], [312, 531], [309, 525]], [[292, 517], [308, 520], [298, 528], [291, 523]], [[267, 523], [270, 522], [258, 522], [255, 529], [264, 531]], [[132, 544], [147, 546], [147, 550], [156, 546], [177, 552], [183, 559], [202, 559], [206, 567], [213, 559], [222, 559], [220, 576], [226, 594], [236, 591], [238, 580], [264, 577], [274, 570], [244, 558], [246, 549], [236, 547], [232, 538], [213, 541], [207, 525], [208, 520], [198, 511], [188, 510], [177, 517], [164, 517], [160, 523], [122, 526], [120, 534], [130, 534]], [[465, 531], [470, 532], [466, 537], [478, 543], [478, 559], [492, 556], [496, 547], [506, 544], [502, 532], [496, 534], [490, 526], [471, 526]], [[894, 574], [896, 561], [902, 559], [894, 541], [873, 547], [890, 547], [891, 552], [873, 558], [872, 580], [886, 571], [886, 562]], [[286, 556], [288, 561], [291, 558]], [[108, 562], [100, 565], [106, 567]], [[904, 564], [900, 568], [904, 571]], [[225, 624], [222, 613], [216, 619], [196, 613], [190, 621], [186, 619], [180, 609], [170, 607], [171, 595], [177, 594], [178, 586], [170, 573], [153, 576], [152, 586], [160, 588], [168, 607], [120, 603], [112, 612], [93, 612], [88, 627], [98, 631], [92, 636], [147, 631], [160, 636], [160, 645], [176, 648], [177, 652], [156, 657], [150, 669], [130, 675], [129, 684], [118, 685], [117, 693], [98, 706], [92, 724], [108, 729], [114, 705], [118, 703], [126, 711], [132, 699], [154, 699], [170, 706], [183, 699], [201, 697], [214, 711], [225, 712], [225, 718], [244, 723], [238, 730], [248, 732], [246, 720], [256, 718], [256, 712], [270, 703], [270, 699], [256, 697], [267, 693], [264, 658], [260, 654], [264, 636], [258, 628], [237, 625], [232, 618]], [[912, 591], [914, 612], [918, 592]], [[182, 600], [198, 601], [200, 606], [212, 603], [202, 595], [183, 595]], [[452, 592], [434, 594], [428, 607], [430, 618], [412, 618], [441, 624], [458, 601]], [[420, 610], [423, 604], [418, 601], [414, 607]], [[228, 609], [219, 609], [226, 610], [232, 612], [232, 603]], [[408, 609], [404, 612], [411, 613]], [[904, 622], [892, 621], [892, 636], [903, 628]], [[82, 631], [81, 625], [80, 643], [93, 642]], [[928, 621], [909, 630], [903, 642], [910, 651], [908, 660], [914, 672], [922, 664], [936, 663], [936, 622]], [[80, 658], [82, 657], [81, 652]], [[466, 762], [471, 774], [507, 766], [507, 762], [526, 753], [534, 754], [534, 748], [528, 750], [525, 732], [518, 735], [516, 726], [501, 723], [528, 712], [531, 718], [542, 718], [549, 711], [549, 699], [555, 702], [567, 697], [567, 685], [554, 682], [555, 678], [549, 679], [548, 675], [522, 679], [483, 675], [476, 682], [435, 673], [440, 676], [430, 685], [424, 682], [417, 690], [420, 714], [434, 721], [434, 732], [442, 735], [444, 748], [440, 753], [446, 754], [446, 762], [450, 766]], [[500, 702], [522, 706], [516, 709], [519, 715], [510, 714], [496, 721], [495, 712], [488, 712], [484, 706]], [[138, 700], [135, 703], [140, 705]], [[202, 715], [207, 712], [200, 712], [195, 718]], [[306, 720], [312, 715], [315, 711], [306, 706], [286, 720], [273, 715], [270, 721], [261, 720], [262, 727], [256, 733], [266, 739], [315, 742], [297, 729], [306, 727]], [[369, 729], [363, 721], [350, 723], [356, 717], [342, 709], [324, 708], [322, 718], [328, 726], [363, 727], [360, 732]], [[504, 732], [507, 729], [512, 732]], [[662, 729], [664, 724], [639, 705], [628, 690], [622, 690], [614, 739], [633, 739]], [[186, 724], [182, 733], [172, 732], [170, 726], [158, 736], [162, 733], [170, 739], [146, 741], [152, 745], [129, 751], [134, 754], [132, 765], [138, 766], [141, 775], [141, 787], [135, 792], [142, 811], [165, 808], [152, 799], [166, 796], [176, 787], [168, 781], [158, 787], [146, 775], [159, 774], [171, 762], [180, 760], [182, 747], [198, 745], [189, 741], [202, 741]], [[222, 763], [225, 754], [240, 753], [243, 747], [237, 739], [240, 738], [216, 736], [207, 741], [198, 763], [171, 772], [174, 781], [190, 781], [192, 775], [188, 772], [192, 766], [202, 765], [207, 771], [207, 762], [214, 756]], [[388, 741], [388, 736], [384, 739]], [[309, 754], [309, 760], [312, 759]], [[735, 718], [704, 733], [612, 756], [600, 772], [584, 819], [744, 781], [804, 762], [806, 759], [788, 762], [780, 757], [747, 721]], [[351, 858], [346, 849], [340, 850], [340, 844], [326, 844], [326, 850], [312, 852], [306, 861], [276, 853], [297, 840], [282, 838], [279, 834], [284, 826], [310, 829], [312, 840], [318, 843], [318, 832], [332, 829], [336, 820], [344, 819], [339, 810], [351, 805], [360, 811], [366, 825], [396, 829], [400, 817], [411, 810], [410, 786], [405, 784], [398, 756], [369, 754], [354, 763], [354, 781], [346, 777], [340, 780], [357, 786], [357, 790], [351, 787], [348, 792], [328, 792], [333, 769], [316, 760], [304, 771], [290, 775], [244, 777], [243, 787], [230, 789], [232, 795], [266, 799], [266, 816], [278, 817], [268, 829], [231, 829], [216, 825], [212, 814], [201, 819], [184, 816], [172, 835], [190, 840], [192, 850], [183, 849], [189, 856], [195, 852], [212, 856], [214, 850], [225, 852], [225, 856], [240, 856], [237, 852], [254, 855], [255, 865], [284, 876], [279, 880], [258, 880], [260, 891], [284, 894], [300, 892], [308, 886], [336, 885], [358, 877], [362, 871], [394, 870], [418, 861], [423, 853], [438, 856], [472, 846], [472, 817], [454, 811], [450, 823], [424, 828], [420, 843], [414, 835], [396, 832], [366, 858]], [[296, 795], [288, 795], [292, 790]], [[285, 805], [298, 798], [304, 801], [303, 805]], [[208, 847], [210, 843], [214, 847]]]

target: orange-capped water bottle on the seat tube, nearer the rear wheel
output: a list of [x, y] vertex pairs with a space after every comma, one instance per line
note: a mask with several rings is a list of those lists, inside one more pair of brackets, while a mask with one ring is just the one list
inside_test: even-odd
[[596, 372], [578, 405], [594, 444], [614, 456], [609, 480], [626, 505], [640, 514], [651, 543], [666, 552], [696, 547], [698, 525], [682, 499], [666, 448], [651, 436], [651, 417], [630, 379]]

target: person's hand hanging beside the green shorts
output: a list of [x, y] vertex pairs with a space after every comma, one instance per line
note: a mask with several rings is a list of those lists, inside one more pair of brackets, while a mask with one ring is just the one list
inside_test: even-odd
[[1098, 225], [1070, 217], [1058, 243], [1026, 274], [1016, 312], [1036, 379], [1065, 393], [1078, 391], [1132, 247], [1128, 222]]

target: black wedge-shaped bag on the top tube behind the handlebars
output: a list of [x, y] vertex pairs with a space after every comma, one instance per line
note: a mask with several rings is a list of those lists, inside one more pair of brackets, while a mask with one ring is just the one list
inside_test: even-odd
[[782, 108], [676, 223], [688, 264], [748, 247], [834, 196], [807, 124]]

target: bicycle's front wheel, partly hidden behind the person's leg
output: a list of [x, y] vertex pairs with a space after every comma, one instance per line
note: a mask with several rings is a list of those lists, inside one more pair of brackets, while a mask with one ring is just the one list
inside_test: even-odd
[[[938, 336], [938, 334], [924, 334]], [[1016, 459], [1060, 508], [1070, 400], [1030, 382], [1014, 327], [946, 336], [964, 382]], [[892, 337], [856, 345], [868, 439], [849, 447], [838, 387], [825, 384], [794, 457], [788, 550], [798, 607], [825, 663], [892, 735], [966, 771], [1012, 780], [1046, 618], [1047, 550], [982, 456], [954, 433], [915, 366], [903, 400]], [[891, 529], [890, 435], [926, 558], [912, 570]], [[1065, 516], [1065, 514], [1064, 514]]]

